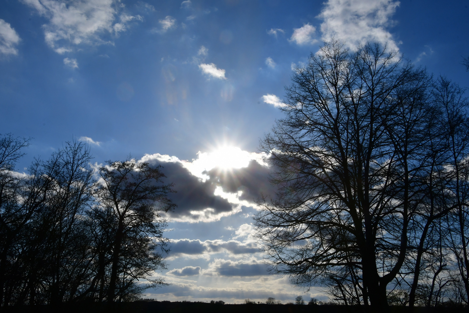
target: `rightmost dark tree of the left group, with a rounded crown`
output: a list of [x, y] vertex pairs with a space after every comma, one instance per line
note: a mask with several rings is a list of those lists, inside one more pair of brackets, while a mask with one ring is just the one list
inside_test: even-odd
[[[99, 175], [97, 209], [103, 210], [101, 216], [111, 218], [105, 221], [112, 234], [107, 301], [128, 300], [145, 288], [163, 284], [161, 279], [148, 276], [165, 268], [162, 253], [167, 251], [167, 239], [163, 237], [166, 220], [159, 212], [175, 207], [167, 198], [174, 191], [172, 184], [162, 182], [166, 176], [160, 167], [151, 168], [148, 163], [130, 158], [108, 161], [99, 168]], [[140, 279], [151, 284], [138, 285]]]

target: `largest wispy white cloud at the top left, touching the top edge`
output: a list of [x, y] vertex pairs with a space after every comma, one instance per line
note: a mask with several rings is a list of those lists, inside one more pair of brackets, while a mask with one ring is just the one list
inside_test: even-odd
[[127, 29], [132, 20], [142, 21], [140, 15], [122, 13], [119, 23], [114, 23], [119, 9], [118, 0], [23, 0], [45, 16], [49, 23], [43, 25], [45, 42], [57, 53], [72, 51], [73, 45], [99, 45], [110, 43], [104, 34], [118, 34]]

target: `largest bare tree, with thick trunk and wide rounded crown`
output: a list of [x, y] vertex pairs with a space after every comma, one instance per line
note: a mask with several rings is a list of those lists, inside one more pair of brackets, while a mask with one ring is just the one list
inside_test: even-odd
[[332, 41], [292, 80], [261, 143], [279, 192], [259, 203], [260, 241], [295, 284], [349, 267], [363, 302], [385, 307], [425, 192], [431, 78], [378, 44], [349, 53]]

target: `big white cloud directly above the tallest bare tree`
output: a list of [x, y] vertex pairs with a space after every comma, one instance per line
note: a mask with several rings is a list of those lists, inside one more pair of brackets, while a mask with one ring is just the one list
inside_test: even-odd
[[399, 6], [393, 0], [329, 0], [318, 15], [322, 38], [340, 39], [348, 47], [356, 49], [359, 44], [379, 42], [398, 50], [396, 42], [386, 26], [392, 24], [391, 16]]

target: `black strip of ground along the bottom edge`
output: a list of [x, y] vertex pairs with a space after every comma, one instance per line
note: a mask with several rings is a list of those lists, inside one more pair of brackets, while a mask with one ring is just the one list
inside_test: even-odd
[[[203, 302], [138, 301], [128, 303], [80, 303], [58, 306], [33, 305], [0, 307], [5, 313], [362, 313], [362, 306], [346, 307], [343, 305], [266, 305], [266, 304], [211, 304]], [[464, 307], [416, 307], [412, 313], [468, 313]], [[371, 313], [371, 312], [370, 312]], [[383, 312], [384, 313], [384, 312]], [[388, 313], [411, 313], [408, 307], [392, 306]]]

